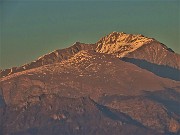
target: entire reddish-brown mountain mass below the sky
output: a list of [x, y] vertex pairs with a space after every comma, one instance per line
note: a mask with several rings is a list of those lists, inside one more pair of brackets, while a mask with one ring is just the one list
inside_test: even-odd
[[0, 134], [179, 135], [179, 61], [155, 39], [113, 32], [4, 70]]

